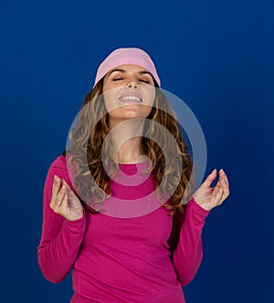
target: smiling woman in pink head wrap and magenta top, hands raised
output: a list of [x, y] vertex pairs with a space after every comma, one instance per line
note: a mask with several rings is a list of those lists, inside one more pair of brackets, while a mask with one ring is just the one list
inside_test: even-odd
[[47, 172], [38, 262], [53, 283], [73, 268], [71, 302], [182, 303], [201, 263], [227, 175], [211, 188], [214, 170], [192, 193], [193, 162], [160, 86], [142, 49], [113, 51]]

